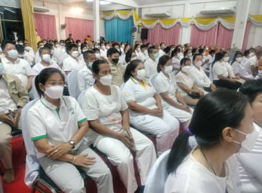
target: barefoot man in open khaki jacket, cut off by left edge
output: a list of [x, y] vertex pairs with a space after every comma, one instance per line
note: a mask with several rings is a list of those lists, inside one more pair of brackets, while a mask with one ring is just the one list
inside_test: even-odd
[[0, 64], [0, 160], [6, 168], [3, 181], [14, 181], [12, 167], [12, 128], [21, 130], [21, 109], [28, 103], [28, 92], [18, 77], [3, 74], [3, 64]]

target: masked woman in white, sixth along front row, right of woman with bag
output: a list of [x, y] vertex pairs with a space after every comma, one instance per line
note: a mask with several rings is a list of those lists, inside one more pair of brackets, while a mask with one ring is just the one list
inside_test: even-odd
[[193, 65], [190, 69], [189, 74], [194, 79], [194, 83], [199, 88], [207, 94], [208, 92], [212, 92], [216, 90], [216, 85], [214, 85], [208, 76], [205, 74], [205, 71], [201, 67], [203, 61], [202, 54], [194, 54], [193, 56]]

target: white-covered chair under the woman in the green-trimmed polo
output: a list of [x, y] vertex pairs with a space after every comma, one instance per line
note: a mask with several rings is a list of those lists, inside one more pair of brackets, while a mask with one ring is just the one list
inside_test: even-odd
[[[41, 168], [37, 159], [37, 151], [34, 147], [34, 143], [31, 141], [30, 132], [28, 130], [28, 110], [37, 103], [39, 99], [30, 101], [21, 111], [21, 125], [23, 130], [23, 141], [26, 145], [26, 174], [25, 183], [28, 187], [32, 188], [32, 192], [36, 190], [39, 192], [61, 192], [59, 187], [46, 175]], [[90, 177], [82, 170], [79, 170], [83, 181], [88, 181]], [[45, 188], [47, 187], [47, 188]], [[48, 190], [46, 190], [48, 189]]]

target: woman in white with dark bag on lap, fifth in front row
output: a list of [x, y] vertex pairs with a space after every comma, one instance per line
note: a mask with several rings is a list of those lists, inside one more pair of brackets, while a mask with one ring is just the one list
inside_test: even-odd
[[[197, 88], [193, 77], [191, 77], [189, 74], [192, 68], [191, 60], [188, 58], [183, 58], [180, 61], [180, 65], [181, 71], [176, 75], [179, 92], [181, 93], [181, 96], [187, 105], [196, 105], [196, 103], [199, 101], [199, 98], [204, 95], [204, 92]], [[195, 99], [192, 98], [192, 96], [190, 96], [192, 93], [198, 94], [199, 97], [196, 97]]]

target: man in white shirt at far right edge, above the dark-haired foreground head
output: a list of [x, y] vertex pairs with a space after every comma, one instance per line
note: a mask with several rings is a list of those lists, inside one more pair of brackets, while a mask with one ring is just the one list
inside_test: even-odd
[[259, 74], [258, 60], [261, 59], [261, 57], [262, 50], [260, 50], [259, 47], [256, 47], [254, 51], [254, 56], [244, 63], [245, 69], [248, 71], [248, 74], [252, 74], [253, 77], [256, 77], [256, 75]]

